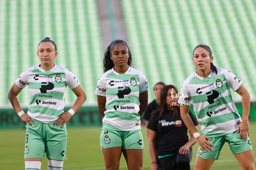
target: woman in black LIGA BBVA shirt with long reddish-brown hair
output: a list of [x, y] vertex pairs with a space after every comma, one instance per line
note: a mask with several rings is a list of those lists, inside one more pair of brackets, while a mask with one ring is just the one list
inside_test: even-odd
[[[196, 140], [187, 135], [187, 127], [181, 119], [177, 100], [179, 93], [174, 85], [166, 85], [161, 90], [161, 104], [150, 118], [148, 147], [151, 170], [190, 169], [192, 146]], [[190, 112], [195, 125], [197, 120]], [[157, 161], [156, 161], [157, 160]]]

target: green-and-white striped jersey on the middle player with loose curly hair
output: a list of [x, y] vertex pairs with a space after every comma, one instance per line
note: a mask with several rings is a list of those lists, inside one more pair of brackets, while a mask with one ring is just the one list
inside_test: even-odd
[[95, 94], [106, 97], [103, 128], [114, 130], [140, 129], [139, 95], [148, 91], [145, 75], [132, 67], [125, 74], [108, 70], [98, 80]]

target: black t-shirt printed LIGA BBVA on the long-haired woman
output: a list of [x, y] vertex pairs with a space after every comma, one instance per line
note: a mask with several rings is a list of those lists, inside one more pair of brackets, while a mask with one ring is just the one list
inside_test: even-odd
[[[198, 125], [194, 115], [189, 112], [189, 115]], [[158, 155], [169, 155], [176, 153], [179, 148], [189, 141], [187, 135], [187, 127], [181, 119], [181, 113], [178, 109], [176, 116], [173, 111], [166, 109], [160, 119], [159, 112], [152, 114], [147, 128], [156, 131], [156, 148]]]

